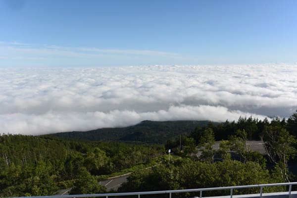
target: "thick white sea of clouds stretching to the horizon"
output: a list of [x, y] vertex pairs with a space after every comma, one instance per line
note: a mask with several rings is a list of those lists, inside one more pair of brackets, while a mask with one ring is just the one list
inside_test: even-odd
[[264, 119], [296, 109], [297, 64], [0, 68], [0, 133]]

